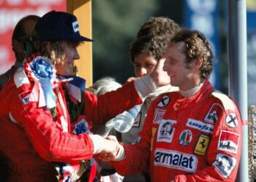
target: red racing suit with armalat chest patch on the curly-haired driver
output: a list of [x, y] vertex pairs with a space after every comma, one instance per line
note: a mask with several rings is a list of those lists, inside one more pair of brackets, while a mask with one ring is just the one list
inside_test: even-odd
[[235, 181], [241, 139], [238, 107], [206, 79], [192, 97], [167, 92], [154, 100], [140, 141], [111, 163], [121, 175], [150, 170], [151, 181]]

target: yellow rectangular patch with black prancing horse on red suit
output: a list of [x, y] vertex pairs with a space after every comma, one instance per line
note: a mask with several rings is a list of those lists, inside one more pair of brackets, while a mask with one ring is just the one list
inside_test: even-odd
[[200, 134], [197, 140], [197, 144], [195, 145], [194, 153], [200, 156], [204, 156], [206, 154], [209, 141], [210, 137], [208, 135]]

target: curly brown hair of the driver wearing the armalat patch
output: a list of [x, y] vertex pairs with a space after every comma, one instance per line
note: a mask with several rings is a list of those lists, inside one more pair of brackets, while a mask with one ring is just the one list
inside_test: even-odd
[[214, 55], [211, 50], [211, 44], [207, 41], [203, 33], [200, 31], [183, 29], [171, 39], [171, 43], [176, 43], [178, 41], [184, 41], [185, 43], [186, 49], [184, 49], [184, 53], [187, 56], [186, 63], [189, 65], [193, 60], [201, 58], [203, 64], [200, 67], [200, 77], [202, 79], [208, 77], [214, 69], [212, 63]]

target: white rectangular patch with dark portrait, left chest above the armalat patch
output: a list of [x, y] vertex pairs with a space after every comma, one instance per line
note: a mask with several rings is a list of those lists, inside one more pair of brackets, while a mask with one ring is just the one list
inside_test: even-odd
[[157, 131], [157, 142], [171, 143], [173, 141], [173, 133], [175, 128], [173, 124], [176, 124], [176, 120], [162, 119], [158, 131]]

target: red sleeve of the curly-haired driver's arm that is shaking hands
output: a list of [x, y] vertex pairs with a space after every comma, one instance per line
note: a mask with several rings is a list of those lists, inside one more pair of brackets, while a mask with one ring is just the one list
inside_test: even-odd
[[148, 114], [143, 125], [143, 130], [140, 132], [140, 140], [138, 143], [124, 146], [124, 160], [110, 162], [117, 173], [121, 175], [132, 175], [148, 170], [152, 136], [151, 121], [153, 114], [153, 106], [151, 105], [148, 108]]

